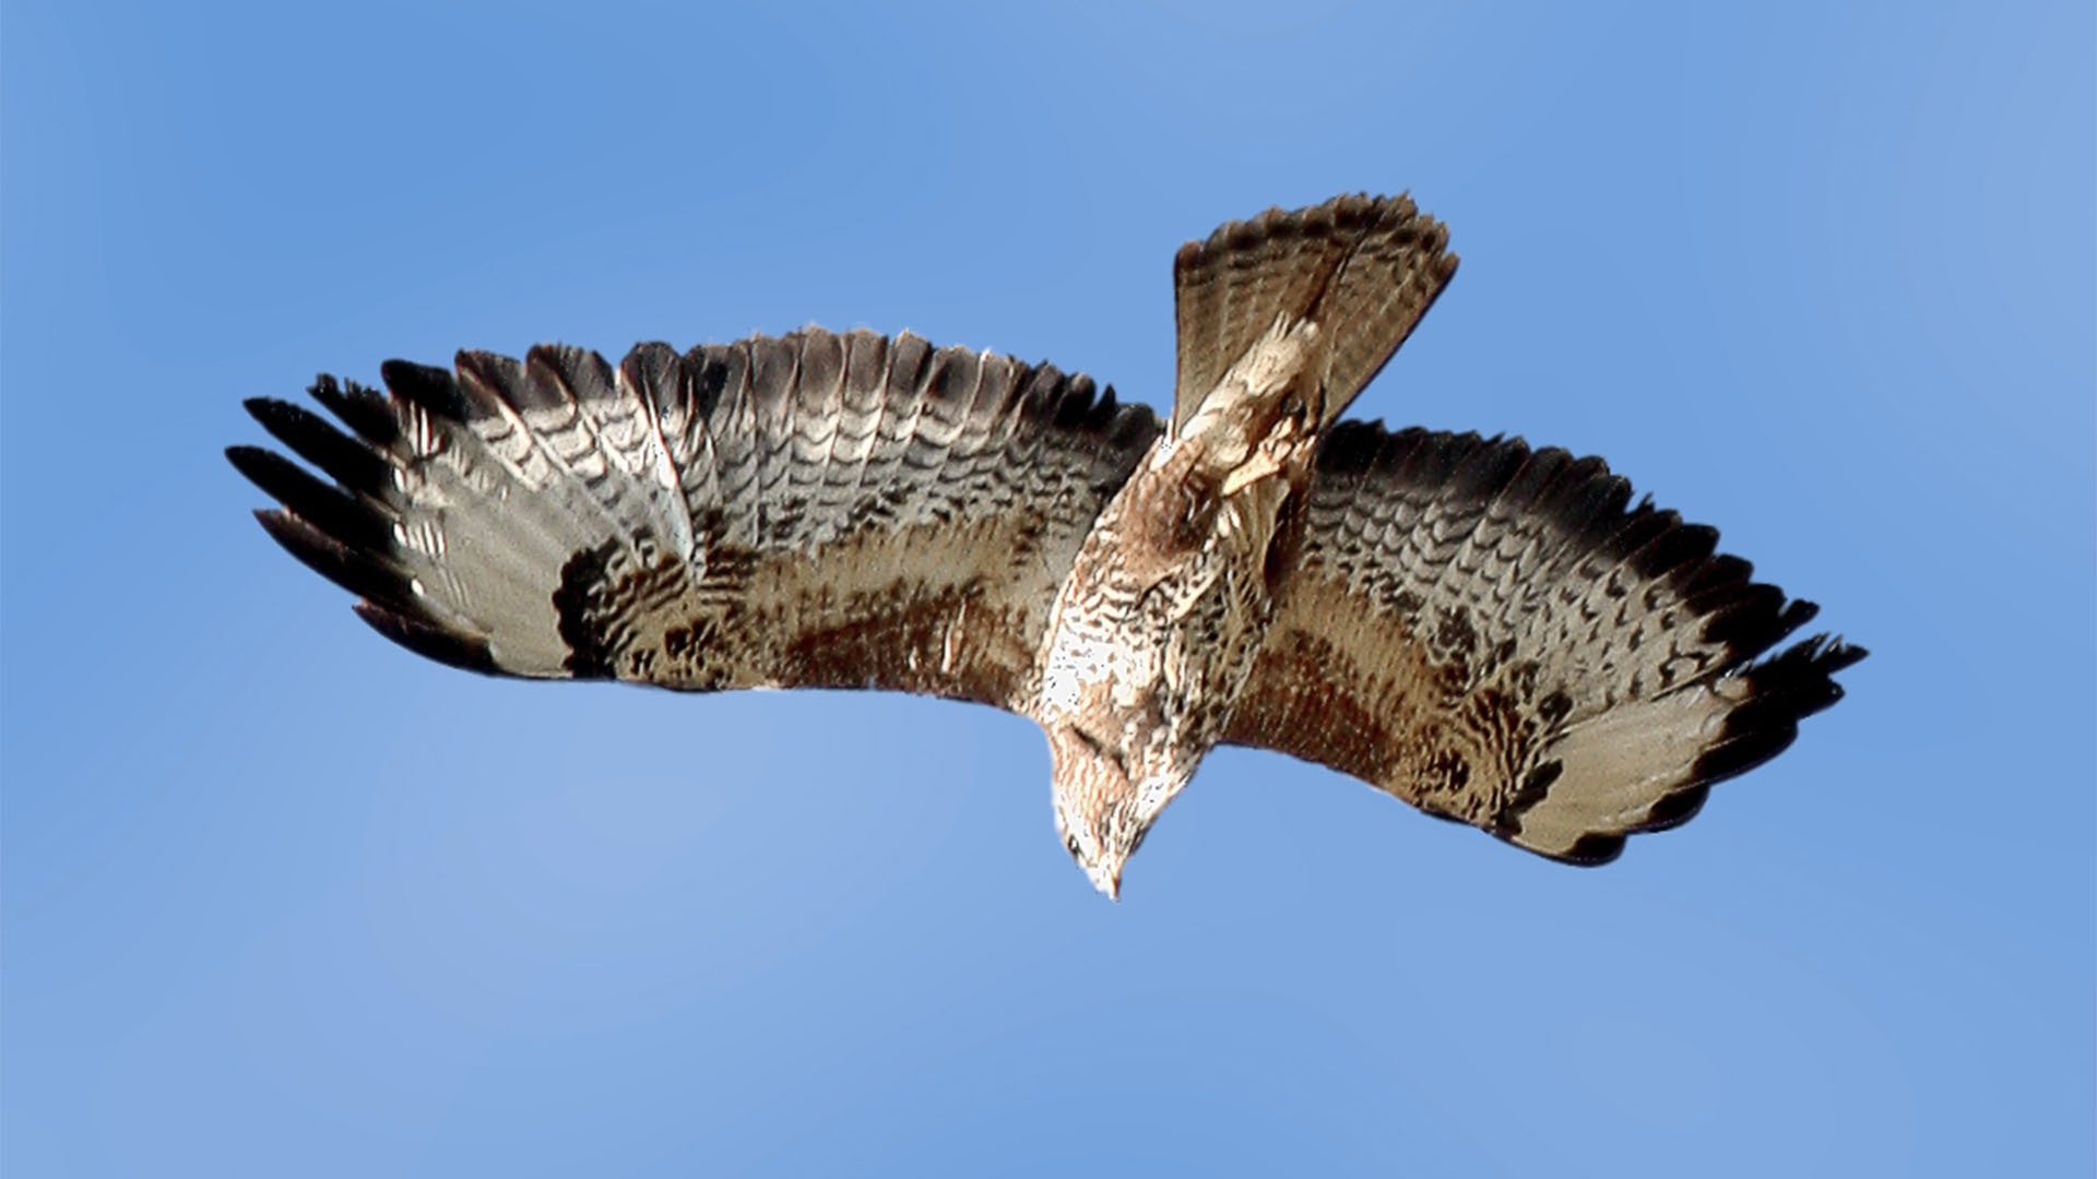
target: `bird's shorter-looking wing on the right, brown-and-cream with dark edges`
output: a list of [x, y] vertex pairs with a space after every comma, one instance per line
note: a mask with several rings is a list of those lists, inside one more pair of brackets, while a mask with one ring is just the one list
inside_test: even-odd
[[[1325, 441], [1227, 741], [1602, 864], [1841, 699], [1862, 648], [1602, 459], [1348, 422]], [[1757, 663], [1759, 659], [1759, 663]]]

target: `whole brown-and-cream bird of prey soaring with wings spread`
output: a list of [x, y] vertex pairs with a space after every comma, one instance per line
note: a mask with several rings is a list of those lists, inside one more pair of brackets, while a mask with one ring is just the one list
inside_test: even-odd
[[346, 432], [247, 409], [331, 483], [229, 457], [283, 548], [455, 667], [1032, 717], [1109, 896], [1216, 745], [1602, 864], [1791, 745], [1864, 650], [1770, 655], [1816, 608], [1602, 459], [1340, 422], [1447, 237], [1401, 195], [1183, 245], [1168, 422], [1046, 363], [807, 327], [323, 376]]

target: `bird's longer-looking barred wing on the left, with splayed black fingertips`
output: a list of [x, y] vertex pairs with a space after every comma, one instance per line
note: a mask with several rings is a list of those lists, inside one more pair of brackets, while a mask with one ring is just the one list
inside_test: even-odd
[[432, 659], [690, 690], [1023, 707], [1055, 587], [1160, 430], [1088, 378], [908, 334], [382, 371], [390, 394], [312, 388], [354, 436], [247, 403], [336, 480], [233, 447], [283, 501], [262, 527]]

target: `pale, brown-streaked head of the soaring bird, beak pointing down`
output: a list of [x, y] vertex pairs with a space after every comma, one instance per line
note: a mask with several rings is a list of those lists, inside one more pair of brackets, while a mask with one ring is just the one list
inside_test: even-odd
[[1055, 759], [1055, 831], [1093, 887], [1120, 900], [1122, 869], [1143, 845], [1185, 774], [1143, 772], [1114, 745], [1069, 724], [1048, 726]]

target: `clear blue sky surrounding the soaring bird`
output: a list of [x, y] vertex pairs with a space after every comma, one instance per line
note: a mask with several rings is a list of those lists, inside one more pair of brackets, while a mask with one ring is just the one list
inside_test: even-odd
[[[0, 4], [0, 1169], [2091, 1175], [2097, 17]], [[1212, 757], [1122, 904], [988, 709], [493, 682], [220, 457], [386, 357], [916, 329], [1158, 405], [1170, 256], [1411, 189], [1357, 403], [1873, 650], [1575, 871]]]

